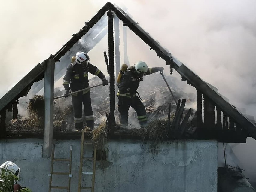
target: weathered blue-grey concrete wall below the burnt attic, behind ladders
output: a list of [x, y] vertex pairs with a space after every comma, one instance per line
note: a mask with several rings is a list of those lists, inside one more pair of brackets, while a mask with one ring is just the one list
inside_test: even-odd
[[[77, 191], [80, 140], [53, 142], [55, 158], [69, 158], [72, 145], [71, 192]], [[20, 184], [33, 192], [47, 192], [49, 186], [51, 159], [42, 158], [42, 143], [41, 139], [0, 140], [0, 163], [17, 163], [21, 169]], [[107, 160], [96, 163], [96, 192], [217, 192], [216, 141], [179, 140], [163, 142], [155, 148], [150, 142], [119, 140], [109, 141], [106, 148]], [[84, 156], [92, 157], [92, 148], [87, 147]], [[83, 172], [91, 172], [90, 164], [83, 164]], [[68, 170], [67, 162], [53, 166], [53, 171]], [[83, 186], [90, 187], [90, 177], [83, 175]], [[55, 175], [52, 184], [65, 186], [67, 181], [66, 175]], [[52, 189], [55, 191], [66, 190]]]

